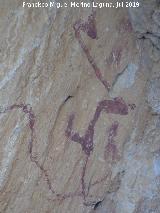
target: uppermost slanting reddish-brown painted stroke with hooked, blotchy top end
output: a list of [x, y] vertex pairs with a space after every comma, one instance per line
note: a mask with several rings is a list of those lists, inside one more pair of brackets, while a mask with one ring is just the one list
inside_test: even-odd
[[94, 61], [94, 58], [91, 56], [89, 49], [85, 45], [82, 36], [81, 31], [87, 32], [87, 35], [90, 36], [92, 39], [95, 39], [97, 37], [97, 31], [95, 27], [95, 15], [92, 14], [88, 18], [88, 22], [83, 23], [81, 20], [76, 21], [74, 26], [75, 36], [79, 42], [80, 47], [82, 48], [83, 52], [86, 55], [86, 58], [88, 59], [88, 62], [92, 66], [97, 78], [101, 81], [101, 83], [105, 86], [107, 90], [109, 90], [110, 85], [109, 83], [103, 78], [100, 69], [98, 68], [96, 62]]

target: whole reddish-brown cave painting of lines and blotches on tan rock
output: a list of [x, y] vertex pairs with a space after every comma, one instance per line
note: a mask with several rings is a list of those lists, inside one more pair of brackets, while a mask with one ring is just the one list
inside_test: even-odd
[[[97, 29], [96, 29], [96, 20], [95, 20], [96, 13], [92, 11], [92, 14], [88, 17], [88, 20], [86, 22], [83, 22], [82, 20], [78, 20], [75, 22], [73, 29], [75, 31], [75, 37], [82, 48], [85, 57], [87, 58], [88, 62], [90, 63], [97, 79], [104, 85], [106, 88], [106, 91], [108, 92], [110, 90], [110, 84], [101, 74], [100, 69], [98, 68], [97, 64], [94, 61], [94, 58], [91, 56], [89, 49], [85, 45], [81, 32], [86, 33], [91, 39], [97, 39]], [[117, 56], [118, 60], [120, 60], [120, 53]], [[129, 113], [129, 108], [133, 110], [135, 108], [135, 105], [133, 104], [126, 104], [123, 98], [117, 97], [112, 100], [102, 100], [98, 103], [96, 107], [96, 111], [93, 115], [93, 118], [90, 120], [87, 129], [85, 130], [84, 136], [80, 136], [78, 132], [74, 132], [73, 130], [73, 121], [75, 114], [72, 113], [69, 116], [66, 130], [65, 130], [65, 136], [69, 138], [71, 141], [76, 142], [79, 144], [82, 148], [82, 151], [84, 153], [84, 161], [83, 161], [83, 168], [81, 172], [81, 190], [75, 190], [75, 192], [68, 192], [65, 194], [57, 193], [51, 183], [51, 180], [49, 178], [48, 171], [44, 168], [43, 165], [38, 161], [37, 157], [33, 154], [33, 145], [35, 141], [35, 122], [36, 122], [36, 116], [32, 110], [32, 107], [30, 105], [26, 105], [24, 103], [21, 104], [13, 104], [11, 106], [8, 106], [0, 111], [0, 114], [2, 113], [9, 113], [14, 110], [20, 110], [22, 113], [24, 113], [28, 118], [28, 127], [30, 129], [30, 140], [28, 142], [28, 152], [30, 155], [30, 160], [33, 162], [37, 168], [41, 171], [47, 185], [48, 189], [52, 192], [54, 198], [50, 199], [52, 201], [63, 201], [68, 198], [72, 198], [75, 196], [80, 196], [83, 198], [84, 205], [93, 205], [93, 203], [87, 202], [87, 196], [89, 194], [89, 190], [91, 187], [102, 183], [105, 181], [108, 177], [108, 174], [101, 177], [99, 180], [96, 180], [95, 182], [90, 183], [88, 186], [85, 183], [85, 177], [87, 173], [87, 165], [88, 161], [90, 160], [90, 155], [92, 155], [92, 152], [94, 150], [94, 131], [95, 131], [95, 125], [98, 121], [100, 115], [102, 112], [105, 112], [107, 114], [117, 114], [125, 116]], [[118, 156], [118, 150], [115, 145], [114, 138], [118, 134], [118, 127], [119, 122], [115, 121], [111, 124], [109, 128], [108, 133], [108, 142], [104, 150], [104, 158], [107, 159], [111, 156], [111, 158], [114, 160]], [[89, 195], [88, 197], [91, 197]], [[96, 201], [95, 201], [96, 203]]]

